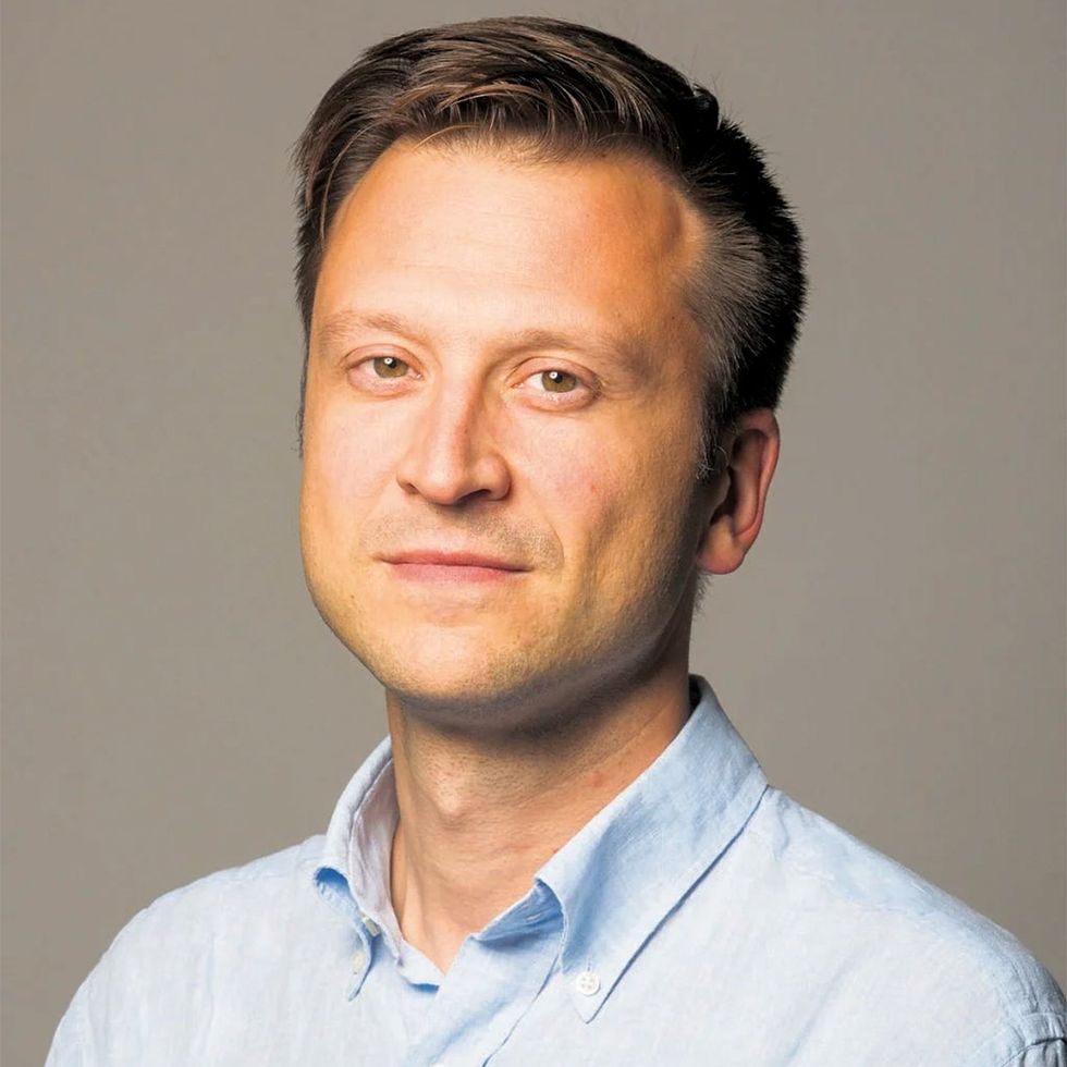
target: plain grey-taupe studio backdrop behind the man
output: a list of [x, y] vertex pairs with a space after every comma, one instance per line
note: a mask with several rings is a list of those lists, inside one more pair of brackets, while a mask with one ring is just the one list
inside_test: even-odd
[[286, 156], [364, 46], [519, 11], [710, 83], [807, 231], [695, 667], [774, 784], [1064, 982], [1059, 2], [5, 9], [5, 1065], [154, 897], [324, 830], [384, 731], [303, 585]]

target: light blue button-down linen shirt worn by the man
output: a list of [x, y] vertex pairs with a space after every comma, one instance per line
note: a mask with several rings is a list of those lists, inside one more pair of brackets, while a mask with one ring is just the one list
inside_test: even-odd
[[389, 895], [388, 740], [326, 836], [160, 897], [49, 1067], [1051, 1067], [1063, 993], [1007, 931], [770, 787], [702, 678], [655, 762], [464, 941]]

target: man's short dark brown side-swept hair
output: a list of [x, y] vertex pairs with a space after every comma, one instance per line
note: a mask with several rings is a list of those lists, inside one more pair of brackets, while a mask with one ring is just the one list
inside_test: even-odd
[[489, 147], [519, 160], [629, 155], [658, 165], [709, 226], [685, 284], [704, 340], [700, 474], [745, 410], [778, 404], [804, 309], [800, 233], [763, 156], [703, 86], [599, 29], [532, 15], [400, 34], [327, 90], [293, 151], [304, 402], [315, 286], [345, 197], [391, 145]]

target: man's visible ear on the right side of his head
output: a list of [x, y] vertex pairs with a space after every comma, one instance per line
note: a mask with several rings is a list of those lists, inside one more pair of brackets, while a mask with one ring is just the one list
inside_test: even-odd
[[697, 566], [711, 574], [736, 571], [763, 524], [763, 506], [778, 461], [778, 422], [766, 407], [741, 415], [722, 447], [726, 469], [709, 500]]

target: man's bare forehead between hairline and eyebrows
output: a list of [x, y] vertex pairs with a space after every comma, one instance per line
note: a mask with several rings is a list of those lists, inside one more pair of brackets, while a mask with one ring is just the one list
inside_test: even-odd
[[333, 220], [314, 317], [426, 305], [514, 324], [551, 310], [652, 332], [684, 315], [703, 240], [696, 209], [633, 157], [532, 163], [400, 143]]

